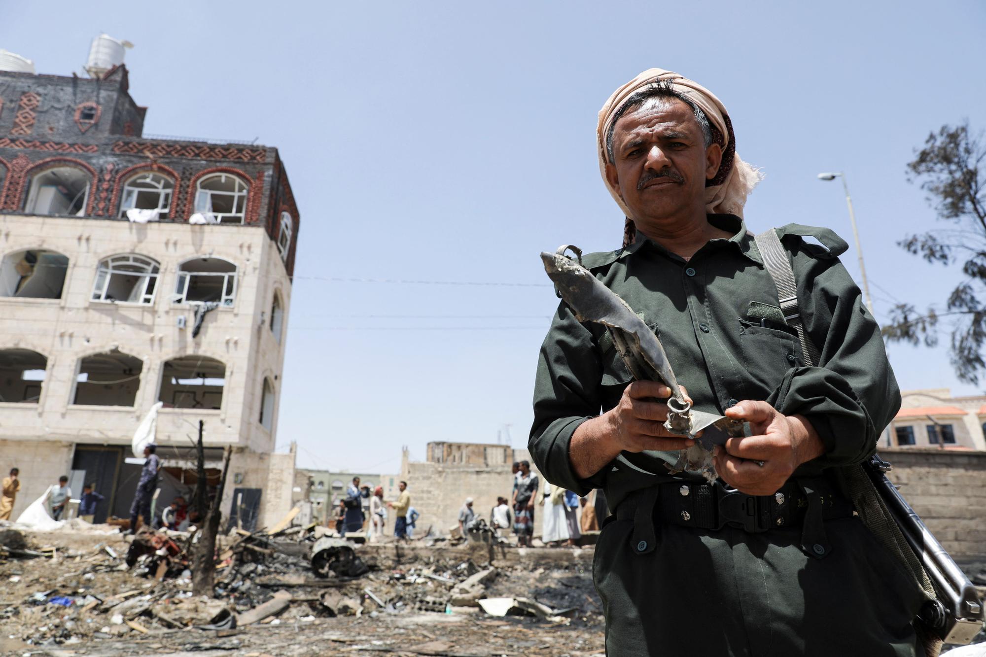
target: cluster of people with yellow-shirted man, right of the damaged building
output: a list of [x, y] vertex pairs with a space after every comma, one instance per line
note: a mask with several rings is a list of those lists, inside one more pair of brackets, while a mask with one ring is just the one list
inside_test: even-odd
[[367, 530], [367, 540], [375, 541], [384, 535], [387, 509], [390, 509], [394, 514], [393, 536], [398, 539], [412, 538], [420, 514], [411, 507], [407, 481], [401, 481], [397, 488], [400, 491], [397, 500], [385, 502], [383, 486], [377, 486], [371, 493], [370, 487], [361, 487], [360, 477], [354, 476], [346, 487], [346, 496], [339, 501], [335, 522], [339, 536]]

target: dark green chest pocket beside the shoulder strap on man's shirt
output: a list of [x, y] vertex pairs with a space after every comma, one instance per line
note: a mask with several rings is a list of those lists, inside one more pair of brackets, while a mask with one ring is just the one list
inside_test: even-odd
[[788, 370], [805, 365], [798, 337], [782, 328], [761, 327], [740, 320], [740, 347], [752, 388], [749, 399], [766, 399]]

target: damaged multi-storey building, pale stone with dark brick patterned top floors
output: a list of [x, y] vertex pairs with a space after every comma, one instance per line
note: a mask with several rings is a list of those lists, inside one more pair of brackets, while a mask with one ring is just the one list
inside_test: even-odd
[[0, 470], [21, 471], [14, 517], [60, 474], [106, 495], [97, 522], [128, 516], [131, 439], [160, 401], [159, 504], [194, 484], [201, 420], [210, 477], [233, 448], [224, 511], [272, 523], [294, 485], [294, 454], [273, 454], [291, 185], [276, 148], [144, 135], [124, 45], [98, 37], [88, 77], [0, 58]]

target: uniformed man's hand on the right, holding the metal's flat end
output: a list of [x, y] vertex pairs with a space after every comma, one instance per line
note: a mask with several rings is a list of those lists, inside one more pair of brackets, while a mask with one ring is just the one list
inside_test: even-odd
[[740, 401], [726, 416], [749, 422], [753, 435], [717, 447], [716, 472], [749, 495], [774, 494], [800, 465], [825, 452], [808, 418], [783, 415], [766, 401]]

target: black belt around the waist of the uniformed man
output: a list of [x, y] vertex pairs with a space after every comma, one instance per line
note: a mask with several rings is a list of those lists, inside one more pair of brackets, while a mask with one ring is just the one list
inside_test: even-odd
[[[782, 527], [799, 526], [809, 510], [806, 485], [817, 495], [821, 518], [848, 518], [853, 505], [837, 493], [826, 479], [788, 481], [773, 495], [748, 495], [727, 488], [720, 481], [696, 483], [685, 480], [658, 483], [653, 520], [658, 524], [720, 530], [736, 527], [751, 534]], [[651, 493], [653, 494], [653, 493]], [[647, 497], [647, 489], [637, 490], [616, 509], [617, 520], [633, 520], [637, 507]]]

